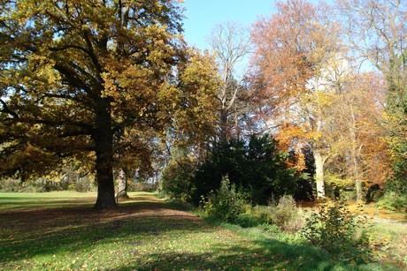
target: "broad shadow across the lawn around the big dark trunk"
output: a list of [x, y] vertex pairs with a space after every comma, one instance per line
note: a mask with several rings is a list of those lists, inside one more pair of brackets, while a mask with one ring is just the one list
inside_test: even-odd
[[48, 204], [68, 202], [51, 199], [42, 208], [0, 212], [0, 267], [11, 267], [7, 263], [37, 255], [81, 251], [130, 236], [155, 236], [180, 229], [198, 231], [205, 225], [198, 225], [195, 216], [152, 197], [127, 199], [117, 209], [101, 211], [83, 207], [88, 204], [86, 199], [69, 202], [71, 207], [46, 208]]

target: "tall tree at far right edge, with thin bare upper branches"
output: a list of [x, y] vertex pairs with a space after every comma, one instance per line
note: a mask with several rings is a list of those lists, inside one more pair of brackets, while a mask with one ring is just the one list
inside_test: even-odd
[[[349, 42], [387, 82], [388, 143], [395, 192], [407, 192], [407, 3], [403, 0], [341, 0]], [[398, 180], [398, 181], [397, 181]]]

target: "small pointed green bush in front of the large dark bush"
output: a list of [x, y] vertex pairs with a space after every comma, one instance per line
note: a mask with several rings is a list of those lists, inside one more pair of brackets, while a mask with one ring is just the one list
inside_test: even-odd
[[222, 178], [219, 189], [211, 192], [202, 203], [206, 215], [224, 222], [235, 222], [245, 206], [242, 195], [236, 192], [235, 185], [230, 184], [227, 176]]

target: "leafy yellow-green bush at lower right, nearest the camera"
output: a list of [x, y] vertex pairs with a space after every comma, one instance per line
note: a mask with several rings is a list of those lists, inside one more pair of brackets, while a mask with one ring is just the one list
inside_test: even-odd
[[358, 219], [342, 202], [326, 202], [306, 219], [302, 235], [341, 260], [367, 261], [367, 245], [356, 239], [357, 224], [363, 226], [367, 218]]

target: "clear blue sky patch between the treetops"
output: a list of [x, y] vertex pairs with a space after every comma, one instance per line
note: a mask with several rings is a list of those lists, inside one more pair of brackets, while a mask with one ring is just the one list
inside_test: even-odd
[[184, 36], [190, 46], [209, 49], [207, 37], [213, 26], [237, 21], [251, 26], [257, 17], [269, 17], [274, 0], [185, 0]]

